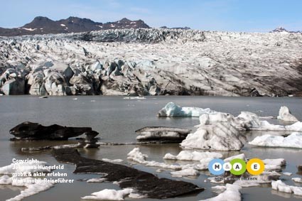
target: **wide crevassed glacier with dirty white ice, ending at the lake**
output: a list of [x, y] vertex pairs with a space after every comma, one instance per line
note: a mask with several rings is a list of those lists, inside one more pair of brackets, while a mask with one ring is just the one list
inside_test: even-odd
[[0, 91], [301, 96], [302, 35], [116, 29], [0, 38]]

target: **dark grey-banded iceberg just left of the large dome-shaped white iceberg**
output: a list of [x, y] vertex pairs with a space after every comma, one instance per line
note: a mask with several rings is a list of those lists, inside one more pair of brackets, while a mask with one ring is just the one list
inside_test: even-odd
[[190, 134], [190, 131], [189, 129], [175, 127], [146, 126], [135, 132], [139, 134], [139, 136], [136, 137], [138, 141], [169, 141], [179, 143]]

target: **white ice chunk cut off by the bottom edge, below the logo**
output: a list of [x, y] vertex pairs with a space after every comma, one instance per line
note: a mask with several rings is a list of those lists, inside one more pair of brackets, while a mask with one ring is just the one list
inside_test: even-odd
[[217, 195], [216, 197], [212, 197], [206, 200], [200, 201], [241, 201], [241, 193], [240, 190], [242, 188], [239, 185], [228, 184], [225, 185], [225, 191]]

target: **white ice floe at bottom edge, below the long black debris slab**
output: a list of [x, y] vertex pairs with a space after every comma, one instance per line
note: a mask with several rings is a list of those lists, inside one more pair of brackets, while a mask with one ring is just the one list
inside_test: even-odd
[[124, 197], [131, 194], [131, 192], [134, 192], [131, 188], [123, 190], [104, 189], [81, 198], [84, 200], [124, 200]]

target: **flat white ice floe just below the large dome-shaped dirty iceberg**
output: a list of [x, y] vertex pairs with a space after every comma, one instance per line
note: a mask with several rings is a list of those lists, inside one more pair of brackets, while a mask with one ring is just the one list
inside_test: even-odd
[[215, 152], [199, 152], [199, 151], [180, 151], [177, 156], [167, 153], [163, 156], [163, 159], [168, 160], [179, 160], [179, 161], [200, 161], [204, 158], [222, 158], [221, 153]]

